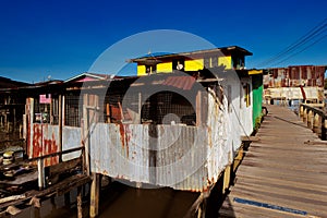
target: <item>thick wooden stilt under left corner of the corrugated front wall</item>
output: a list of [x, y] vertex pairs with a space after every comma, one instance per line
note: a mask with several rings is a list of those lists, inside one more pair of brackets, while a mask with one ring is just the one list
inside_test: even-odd
[[92, 178], [89, 217], [94, 218], [99, 214], [100, 175], [98, 173], [93, 173]]

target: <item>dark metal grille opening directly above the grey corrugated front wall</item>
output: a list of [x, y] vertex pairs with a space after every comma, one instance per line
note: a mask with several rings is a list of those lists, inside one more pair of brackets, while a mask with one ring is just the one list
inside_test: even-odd
[[146, 93], [107, 94], [102, 108], [102, 122], [187, 125], [195, 125], [196, 122], [192, 104], [172, 92], [161, 92], [150, 97]]

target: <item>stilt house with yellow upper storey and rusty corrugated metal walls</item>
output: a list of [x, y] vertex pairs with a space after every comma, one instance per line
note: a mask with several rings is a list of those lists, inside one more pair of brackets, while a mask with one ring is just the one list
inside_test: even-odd
[[130, 60], [137, 76], [83, 73], [36, 87], [26, 100], [27, 155], [84, 146], [87, 173], [208, 191], [262, 116], [263, 72], [245, 69], [251, 55], [232, 46], [141, 57]]

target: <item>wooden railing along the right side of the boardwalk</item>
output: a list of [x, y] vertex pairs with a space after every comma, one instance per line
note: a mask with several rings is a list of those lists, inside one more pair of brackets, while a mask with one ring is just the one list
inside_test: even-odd
[[300, 105], [299, 117], [306, 125], [326, 141], [326, 114], [324, 110], [312, 105]]

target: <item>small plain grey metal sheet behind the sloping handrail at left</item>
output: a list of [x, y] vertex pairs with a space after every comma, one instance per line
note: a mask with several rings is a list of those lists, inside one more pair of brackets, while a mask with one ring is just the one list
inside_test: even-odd
[[[62, 150], [68, 150], [82, 146], [82, 129], [74, 126], [62, 128]], [[81, 152], [62, 155], [62, 160], [71, 160], [81, 156]]]

